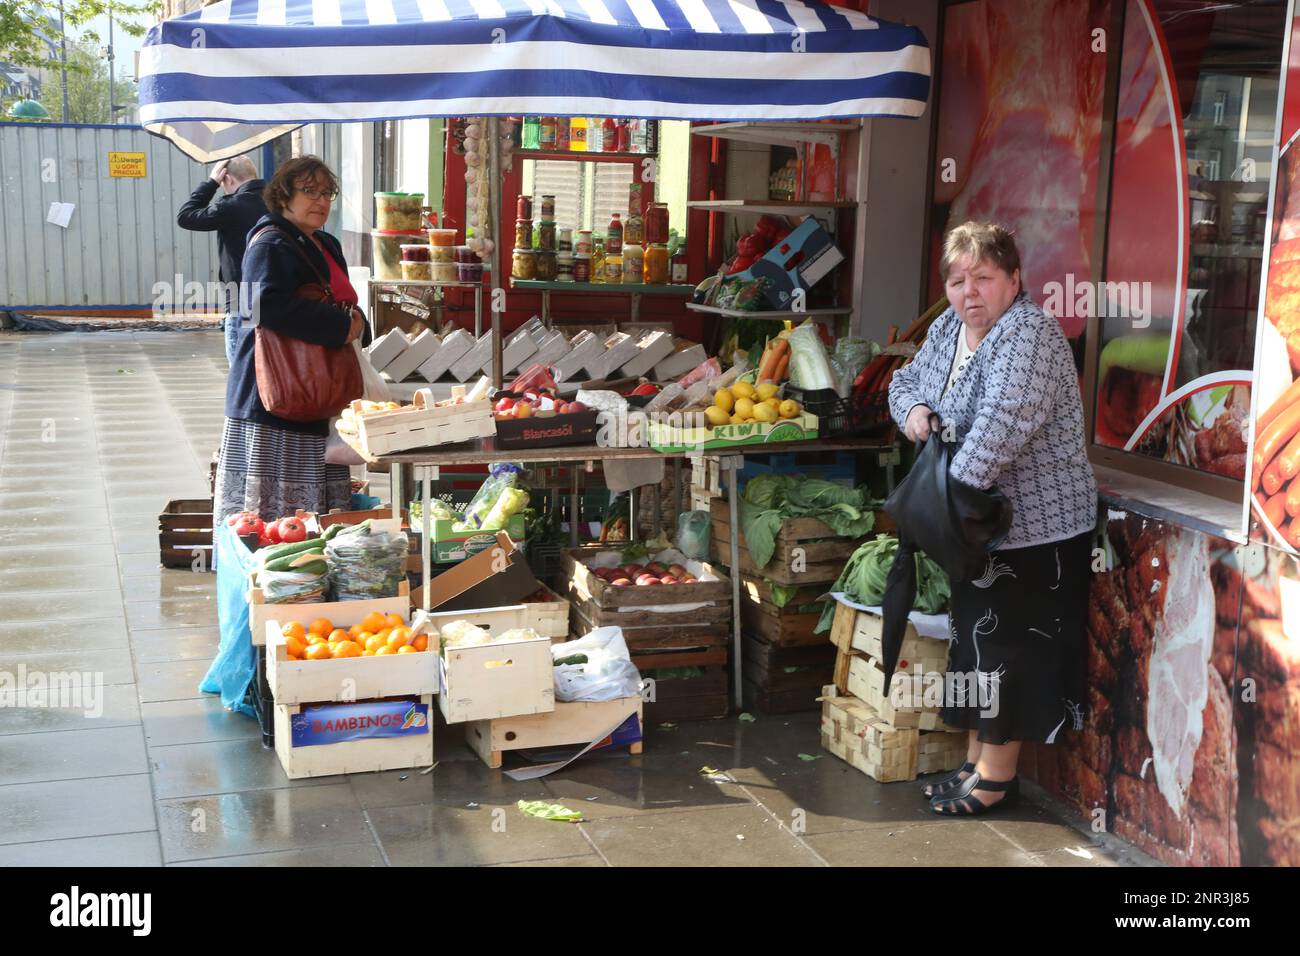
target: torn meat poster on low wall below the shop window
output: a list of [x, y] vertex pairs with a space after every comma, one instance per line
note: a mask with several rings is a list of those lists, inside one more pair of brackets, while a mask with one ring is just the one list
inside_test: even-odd
[[1022, 770], [1164, 862], [1300, 865], [1290, 558], [1119, 511], [1105, 548], [1084, 730]]

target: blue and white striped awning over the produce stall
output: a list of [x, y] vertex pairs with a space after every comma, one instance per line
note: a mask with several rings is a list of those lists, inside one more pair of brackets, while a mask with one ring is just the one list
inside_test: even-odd
[[304, 122], [919, 116], [911, 26], [801, 0], [220, 0], [150, 30], [140, 120], [195, 159]]

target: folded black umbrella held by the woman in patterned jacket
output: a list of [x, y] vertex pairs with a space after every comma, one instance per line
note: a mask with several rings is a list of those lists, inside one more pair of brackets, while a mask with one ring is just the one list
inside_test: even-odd
[[1011, 502], [997, 488], [982, 492], [954, 479], [949, 468], [957, 446], [942, 440], [937, 415], [931, 415], [930, 420], [940, 428], [931, 432], [907, 477], [884, 505], [898, 525], [898, 554], [889, 568], [881, 601], [884, 659], [880, 665], [887, 688], [916, 598], [915, 553], [924, 551], [957, 584], [984, 574], [988, 553], [1011, 529]]

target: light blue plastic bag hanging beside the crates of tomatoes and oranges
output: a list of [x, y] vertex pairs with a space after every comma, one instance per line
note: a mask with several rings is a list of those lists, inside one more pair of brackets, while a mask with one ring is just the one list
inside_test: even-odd
[[221, 645], [217, 657], [199, 684], [203, 693], [220, 693], [226, 710], [256, 718], [254, 709], [244, 704], [244, 695], [254, 680], [257, 649], [248, 631], [248, 574], [257, 562], [252, 551], [240, 541], [234, 528], [217, 522], [213, 550], [217, 562], [217, 622], [221, 626]]

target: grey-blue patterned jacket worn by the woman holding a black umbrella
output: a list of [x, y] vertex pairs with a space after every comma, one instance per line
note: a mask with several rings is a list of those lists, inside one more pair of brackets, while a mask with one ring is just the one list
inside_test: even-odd
[[1097, 520], [1097, 483], [1083, 441], [1079, 378], [1061, 324], [1028, 294], [1011, 303], [944, 394], [957, 349], [957, 311], [930, 328], [916, 358], [889, 384], [900, 427], [916, 405], [956, 425], [952, 473], [1011, 499], [1002, 548], [1065, 541]]

